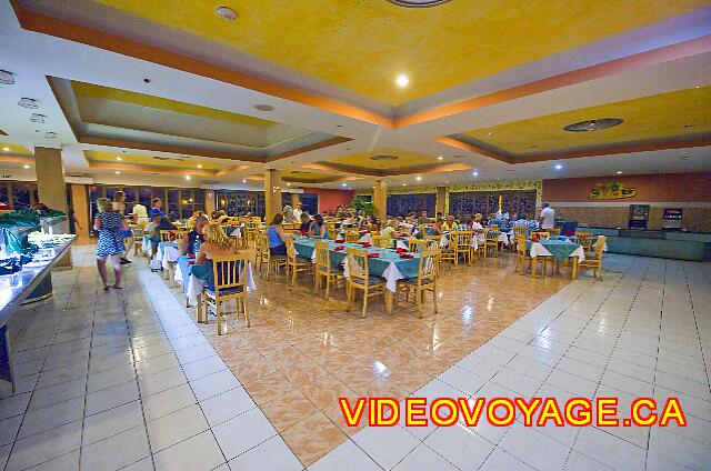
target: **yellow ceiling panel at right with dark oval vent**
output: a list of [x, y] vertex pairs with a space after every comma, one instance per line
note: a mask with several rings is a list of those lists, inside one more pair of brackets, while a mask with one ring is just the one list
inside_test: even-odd
[[[624, 122], [598, 131], [563, 130], [568, 124], [602, 118], [620, 118]], [[478, 129], [465, 136], [515, 154], [704, 133], [711, 133], [711, 87], [565, 111]]]

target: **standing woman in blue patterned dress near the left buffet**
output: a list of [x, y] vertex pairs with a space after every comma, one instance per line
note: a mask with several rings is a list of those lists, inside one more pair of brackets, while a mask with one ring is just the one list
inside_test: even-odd
[[[99, 232], [99, 241], [97, 242], [97, 268], [103, 281], [103, 289], [109, 288], [121, 289], [121, 254], [126, 251], [123, 247], [123, 232], [128, 229], [121, 213], [113, 209], [111, 200], [108, 198], [99, 198], [97, 200], [99, 213], [93, 220], [93, 228]], [[107, 258], [111, 258], [113, 265], [113, 275], [116, 281], [109, 287], [107, 279]]]

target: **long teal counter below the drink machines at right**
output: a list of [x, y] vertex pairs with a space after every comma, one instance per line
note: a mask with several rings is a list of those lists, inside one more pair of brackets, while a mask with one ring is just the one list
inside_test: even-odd
[[608, 252], [663, 259], [711, 261], [711, 234], [643, 231], [638, 229], [578, 228], [608, 238]]

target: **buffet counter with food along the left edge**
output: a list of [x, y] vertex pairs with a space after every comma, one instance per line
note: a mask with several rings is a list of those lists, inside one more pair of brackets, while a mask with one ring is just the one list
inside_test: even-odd
[[69, 253], [76, 238], [71, 234], [60, 236], [54, 247], [40, 248], [20, 271], [0, 275], [0, 380], [12, 383], [8, 320], [21, 304], [51, 295], [50, 272]]

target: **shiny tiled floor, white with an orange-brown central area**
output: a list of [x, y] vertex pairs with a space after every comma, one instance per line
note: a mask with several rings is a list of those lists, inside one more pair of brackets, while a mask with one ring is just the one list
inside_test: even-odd
[[[91, 253], [76, 255], [11, 325], [7, 470], [711, 469], [709, 264], [610, 255], [604, 281], [570, 284], [508, 261], [459, 268], [423, 320], [379, 301], [361, 320], [310, 283], [258, 280], [252, 327], [217, 338], [142, 261], [104, 293]], [[689, 427], [356, 431], [334, 407], [411, 393], [675, 395]]]

